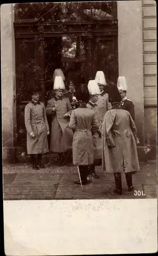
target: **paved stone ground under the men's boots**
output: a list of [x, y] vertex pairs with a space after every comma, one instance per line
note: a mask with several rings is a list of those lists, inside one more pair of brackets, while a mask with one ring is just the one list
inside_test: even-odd
[[[133, 175], [137, 192], [128, 192], [122, 175], [123, 195], [113, 193], [114, 175], [101, 172], [96, 166], [99, 179], [83, 186], [74, 184], [78, 180], [76, 166], [47, 165], [34, 170], [29, 164], [5, 164], [3, 166], [4, 200], [51, 200], [51, 199], [145, 199], [157, 197], [156, 162], [140, 163], [141, 170]], [[137, 194], [137, 195], [135, 195]]]

